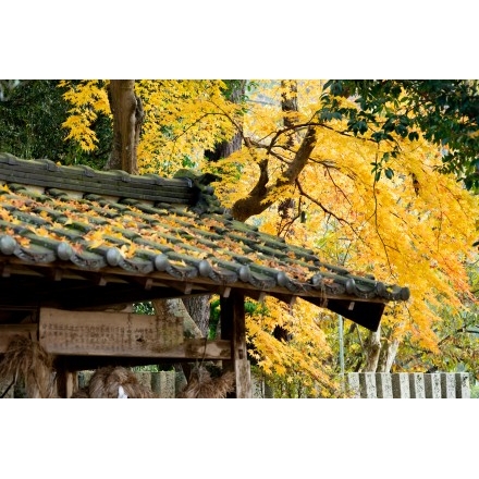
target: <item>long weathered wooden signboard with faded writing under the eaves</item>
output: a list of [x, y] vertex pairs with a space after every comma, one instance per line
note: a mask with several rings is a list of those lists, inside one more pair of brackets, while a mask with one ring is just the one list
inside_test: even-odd
[[231, 358], [229, 341], [185, 340], [183, 328], [181, 318], [41, 308], [39, 342], [64, 356]]

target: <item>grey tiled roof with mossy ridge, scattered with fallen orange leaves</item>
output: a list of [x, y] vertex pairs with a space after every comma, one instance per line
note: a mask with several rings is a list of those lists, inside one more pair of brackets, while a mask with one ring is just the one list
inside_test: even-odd
[[[145, 298], [160, 288], [171, 296], [172, 290], [228, 294], [231, 287], [256, 298], [300, 296], [371, 329], [386, 302], [409, 297], [406, 287], [351, 274], [320, 261], [318, 251], [235, 221], [200, 179], [99, 172], [5, 153], [0, 153], [2, 268], [3, 278], [39, 275], [57, 283], [58, 292], [64, 291], [58, 284], [76, 279], [75, 287], [79, 280], [135, 284]], [[371, 315], [372, 323], [366, 318]]]

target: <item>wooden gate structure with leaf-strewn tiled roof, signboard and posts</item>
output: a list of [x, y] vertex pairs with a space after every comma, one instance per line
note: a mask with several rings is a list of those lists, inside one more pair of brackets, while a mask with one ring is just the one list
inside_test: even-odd
[[[57, 358], [62, 397], [78, 370], [222, 360], [234, 396], [250, 397], [246, 296], [300, 297], [371, 331], [388, 302], [409, 298], [235, 221], [205, 183], [0, 153], [0, 358], [16, 334], [38, 341]], [[221, 297], [220, 340], [123, 310], [205, 294]]]

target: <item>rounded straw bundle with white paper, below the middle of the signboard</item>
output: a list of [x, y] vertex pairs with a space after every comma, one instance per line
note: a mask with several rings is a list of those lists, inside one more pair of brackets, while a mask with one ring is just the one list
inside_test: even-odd
[[91, 376], [88, 396], [90, 398], [151, 398], [151, 389], [142, 384], [133, 371], [121, 367], [107, 366]]

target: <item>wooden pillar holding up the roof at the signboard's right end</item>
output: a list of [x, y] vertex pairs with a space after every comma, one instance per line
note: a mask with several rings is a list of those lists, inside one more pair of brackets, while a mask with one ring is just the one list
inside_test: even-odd
[[245, 296], [232, 291], [221, 298], [221, 339], [231, 341], [231, 361], [225, 370], [234, 370], [236, 394], [233, 397], [253, 397], [250, 365], [246, 354]]

